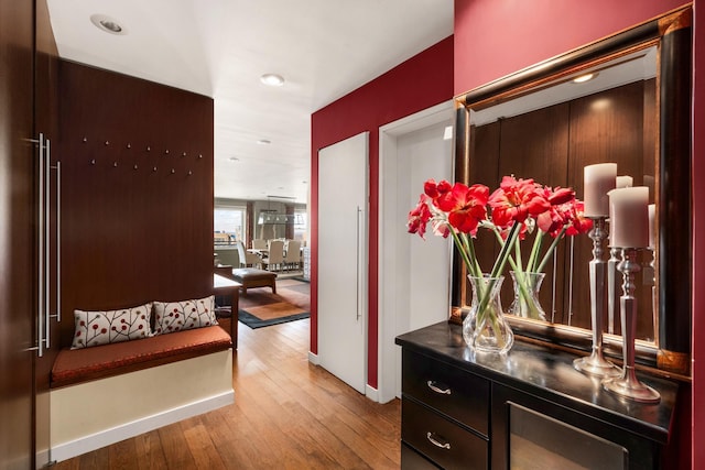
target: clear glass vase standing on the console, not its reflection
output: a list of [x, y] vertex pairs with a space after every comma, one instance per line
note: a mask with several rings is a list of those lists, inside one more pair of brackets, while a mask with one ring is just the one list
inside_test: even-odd
[[514, 334], [505, 317], [499, 277], [468, 276], [473, 286], [470, 311], [463, 320], [463, 338], [477, 352], [506, 353], [514, 343]]

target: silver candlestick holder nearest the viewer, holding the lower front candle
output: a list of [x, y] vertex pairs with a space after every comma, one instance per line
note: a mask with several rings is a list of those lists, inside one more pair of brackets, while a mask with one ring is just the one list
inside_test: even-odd
[[637, 379], [634, 369], [634, 339], [637, 335], [637, 297], [634, 297], [634, 274], [641, 271], [637, 261], [637, 249], [622, 249], [622, 261], [617, 269], [622, 273], [622, 295], [619, 297], [621, 310], [621, 337], [625, 364], [620, 378], [603, 381], [603, 387], [628, 400], [640, 403], [659, 403], [661, 395]]

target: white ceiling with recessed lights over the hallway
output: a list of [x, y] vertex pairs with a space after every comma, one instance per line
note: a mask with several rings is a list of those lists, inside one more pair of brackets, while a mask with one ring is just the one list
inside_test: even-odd
[[[453, 0], [48, 4], [62, 58], [215, 99], [215, 196], [236, 199], [306, 203], [311, 114], [453, 34]], [[127, 34], [100, 31], [93, 14]], [[267, 73], [285, 84], [262, 85]]]

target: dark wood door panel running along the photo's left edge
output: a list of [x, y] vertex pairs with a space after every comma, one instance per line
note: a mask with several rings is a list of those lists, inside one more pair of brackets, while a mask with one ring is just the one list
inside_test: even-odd
[[33, 467], [32, 2], [0, 6], [0, 468]]

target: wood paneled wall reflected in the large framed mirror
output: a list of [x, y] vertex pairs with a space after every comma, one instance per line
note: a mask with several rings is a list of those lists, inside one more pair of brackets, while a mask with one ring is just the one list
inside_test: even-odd
[[[482, 183], [494, 190], [503, 175], [514, 175], [517, 178], [533, 178], [547, 186], [572, 187], [576, 197], [583, 199], [583, 168], [595, 163], [614, 162], [619, 175], [633, 177], [634, 186], [650, 186], [653, 203], [657, 159], [654, 86], [653, 79], [637, 81], [471, 128], [470, 183]], [[524, 261], [529, 258], [533, 237], [530, 240], [522, 243]], [[550, 239], [544, 241], [543, 250], [550, 243]], [[573, 254], [570, 239], [558, 244], [555, 272], [551, 263], [545, 270], [541, 305], [549, 319], [589, 329], [587, 265], [593, 258], [593, 242], [587, 236], [581, 236], [575, 237], [574, 243]], [[498, 243], [491, 234], [480, 233], [477, 251], [481, 265], [491, 267]], [[644, 256], [646, 265], [650, 254]], [[638, 282], [650, 286], [649, 273], [642, 270]], [[620, 288], [616, 293], [617, 305], [619, 294]], [[510, 305], [512, 295], [512, 283], [508, 280], [502, 287], [503, 305]], [[651, 311], [650, 288], [640, 289], [639, 295], [641, 310]], [[615, 321], [616, 332], [620, 331], [618, 318]], [[639, 338], [653, 340], [653, 321], [651, 315], [638, 316]]]

